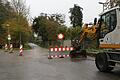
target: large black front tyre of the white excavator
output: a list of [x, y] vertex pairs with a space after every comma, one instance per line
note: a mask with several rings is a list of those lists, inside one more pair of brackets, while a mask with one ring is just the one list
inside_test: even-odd
[[98, 53], [95, 58], [95, 64], [99, 71], [109, 72], [113, 70], [114, 67], [109, 67], [109, 65], [114, 66], [114, 62], [109, 62], [106, 53]]

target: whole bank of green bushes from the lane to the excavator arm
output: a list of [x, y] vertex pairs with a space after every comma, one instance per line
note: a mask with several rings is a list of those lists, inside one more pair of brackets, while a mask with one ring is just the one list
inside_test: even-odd
[[[57, 14], [55, 14], [57, 15]], [[47, 15], [42, 13], [40, 16], [36, 17], [33, 21], [32, 29], [33, 32], [37, 33], [38, 36], [42, 37], [42, 41], [37, 40], [37, 44], [42, 47], [47, 47], [48, 45], [59, 45], [60, 40], [58, 40], [58, 34], [62, 33], [64, 35], [64, 40], [73, 39], [80, 33], [80, 27], [70, 27], [67, 28], [59, 20], [61, 17], [54, 17], [55, 15]]]

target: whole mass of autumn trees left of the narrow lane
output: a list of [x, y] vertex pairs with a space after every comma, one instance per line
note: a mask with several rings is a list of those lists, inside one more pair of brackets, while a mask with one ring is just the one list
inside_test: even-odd
[[[12, 1], [19, 1], [19, 3], [15, 2], [13, 4]], [[23, 0], [12, 1], [0, 0], [0, 44], [4, 45], [7, 43], [7, 35], [10, 34], [10, 42], [18, 46], [20, 44], [20, 34], [23, 44], [29, 41], [31, 28], [28, 24], [27, 16], [24, 15], [26, 13], [25, 9], [27, 8], [25, 7], [25, 3], [23, 4]]]

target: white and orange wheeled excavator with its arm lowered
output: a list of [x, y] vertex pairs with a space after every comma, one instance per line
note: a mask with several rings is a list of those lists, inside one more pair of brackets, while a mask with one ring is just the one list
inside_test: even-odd
[[84, 25], [80, 35], [71, 41], [75, 48], [70, 57], [83, 55], [86, 57], [85, 39], [91, 34], [93, 40], [97, 39], [98, 48], [102, 49], [95, 56], [95, 64], [99, 71], [109, 72], [116, 63], [120, 63], [120, 0], [107, 0], [103, 4], [100, 19], [95, 19], [92, 27]]

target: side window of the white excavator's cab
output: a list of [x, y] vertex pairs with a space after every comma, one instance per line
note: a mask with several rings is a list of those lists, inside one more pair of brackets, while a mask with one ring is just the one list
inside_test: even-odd
[[113, 31], [117, 24], [116, 10], [112, 10], [101, 16], [101, 29], [100, 37], [104, 38], [105, 35]]

